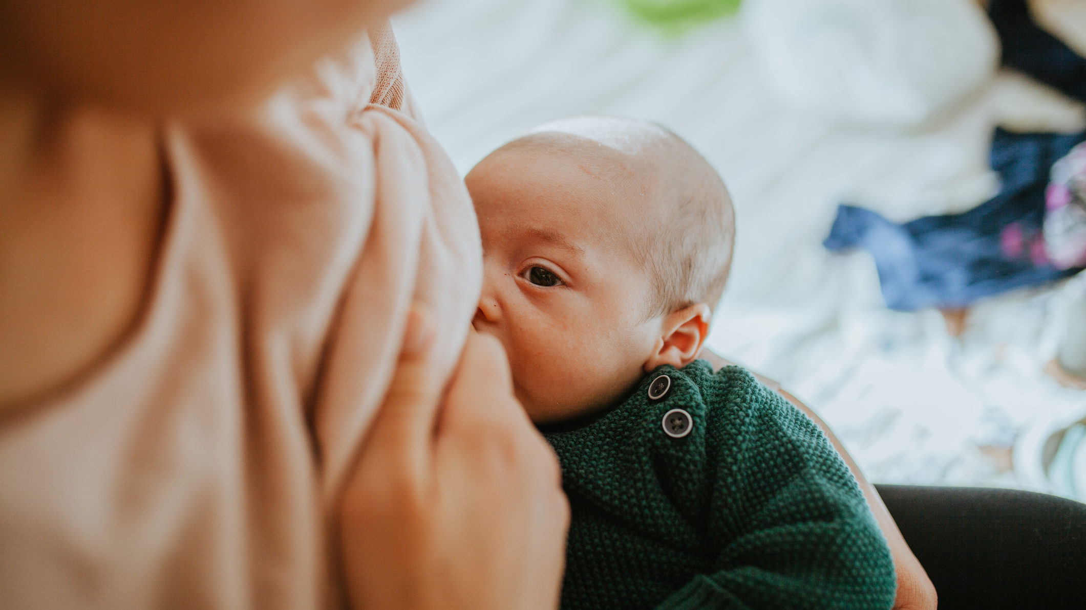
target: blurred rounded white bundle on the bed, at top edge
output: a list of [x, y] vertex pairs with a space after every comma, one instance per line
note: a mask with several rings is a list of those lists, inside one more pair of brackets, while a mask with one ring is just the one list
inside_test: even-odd
[[747, 0], [743, 22], [784, 101], [849, 123], [926, 123], [999, 59], [973, 0]]

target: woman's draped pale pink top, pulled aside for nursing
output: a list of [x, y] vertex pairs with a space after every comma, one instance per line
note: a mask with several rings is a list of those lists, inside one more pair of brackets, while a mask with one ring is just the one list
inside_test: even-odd
[[342, 605], [330, 511], [413, 300], [447, 376], [475, 214], [413, 119], [391, 30], [244, 116], [171, 125], [141, 319], [0, 417], [0, 608]]

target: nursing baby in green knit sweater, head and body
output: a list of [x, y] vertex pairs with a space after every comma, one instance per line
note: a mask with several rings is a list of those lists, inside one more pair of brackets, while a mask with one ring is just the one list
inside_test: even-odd
[[561, 461], [561, 608], [888, 609], [855, 479], [806, 416], [696, 359], [731, 265], [723, 182], [656, 125], [544, 125], [466, 178], [483, 242], [473, 320]]

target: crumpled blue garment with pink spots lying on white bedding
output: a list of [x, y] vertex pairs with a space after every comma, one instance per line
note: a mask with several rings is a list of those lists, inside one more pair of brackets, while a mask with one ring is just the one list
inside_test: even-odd
[[1045, 191], [1052, 166], [1086, 140], [1077, 134], [1013, 134], [997, 128], [992, 169], [999, 193], [961, 214], [895, 224], [842, 205], [824, 245], [868, 251], [892, 309], [963, 308], [1022, 288], [1050, 284], [1082, 270], [1061, 268], [1046, 252]]

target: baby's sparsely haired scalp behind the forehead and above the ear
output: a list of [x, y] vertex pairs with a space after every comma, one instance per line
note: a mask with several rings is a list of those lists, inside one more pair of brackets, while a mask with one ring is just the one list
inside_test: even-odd
[[656, 316], [696, 303], [715, 308], [735, 239], [731, 198], [690, 144], [644, 120], [583, 116], [547, 123], [494, 151], [558, 156], [618, 195], [609, 239], [648, 271]]

